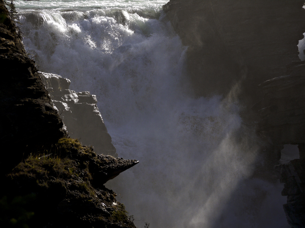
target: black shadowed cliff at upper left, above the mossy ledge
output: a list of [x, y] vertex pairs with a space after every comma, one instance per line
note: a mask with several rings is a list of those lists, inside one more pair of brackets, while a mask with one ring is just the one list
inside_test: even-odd
[[7, 171], [67, 132], [2, 1], [0, 19], [0, 170]]

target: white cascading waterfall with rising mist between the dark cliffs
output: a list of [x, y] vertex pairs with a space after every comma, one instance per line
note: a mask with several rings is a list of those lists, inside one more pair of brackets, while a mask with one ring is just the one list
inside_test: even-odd
[[138, 227], [289, 227], [283, 186], [250, 178], [238, 103], [193, 98], [167, 1], [15, 2], [39, 70], [97, 95], [119, 157], [140, 161], [106, 184]]

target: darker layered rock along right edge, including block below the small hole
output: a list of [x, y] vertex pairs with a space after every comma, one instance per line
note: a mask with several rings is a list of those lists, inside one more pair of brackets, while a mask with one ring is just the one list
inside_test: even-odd
[[[276, 166], [278, 178], [285, 183], [284, 211], [293, 228], [305, 227], [305, 61], [287, 65], [287, 75], [260, 85], [264, 98], [253, 106], [260, 115], [258, 130], [265, 131], [278, 159], [284, 144], [298, 145], [300, 159]], [[273, 151], [270, 151], [273, 153]]]

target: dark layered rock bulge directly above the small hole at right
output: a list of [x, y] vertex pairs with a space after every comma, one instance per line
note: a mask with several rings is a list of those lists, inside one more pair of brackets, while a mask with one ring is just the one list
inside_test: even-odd
[[[287, 74], [260, 84], [264, 98], [253, 106], [260, 115], [258, 130], [266, 131], [280, 149], [305, 143], [305, 61], [287, 65]], [[299, 147], [299, 148], [300, 148]], [[305, 157], [305, 151], [300, 157]]]

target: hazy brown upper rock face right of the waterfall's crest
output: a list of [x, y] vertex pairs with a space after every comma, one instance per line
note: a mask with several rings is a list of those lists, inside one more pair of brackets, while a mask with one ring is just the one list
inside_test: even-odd
[[[285, 73], [298, 60], [305, 31], [303, 1], [170, 0], [163, 6], [184, 45], [197, 95], [228, 93]], [[256, 94], [257, 95], [257, 94]]]

